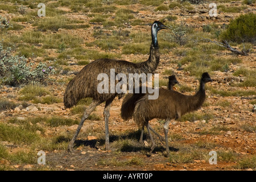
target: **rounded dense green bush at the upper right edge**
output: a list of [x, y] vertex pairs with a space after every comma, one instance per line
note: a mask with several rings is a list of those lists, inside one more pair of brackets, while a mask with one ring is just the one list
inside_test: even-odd
[[221, 34], [222, 40], [242, 43], [255, 43], [256, 40], [256, 14], [240, 15], [238, 18], [232, 20], [227, 28]]

